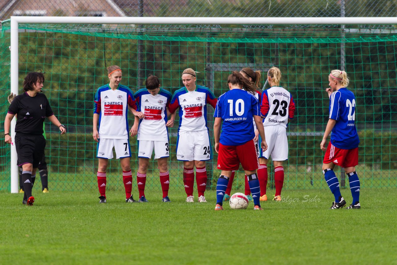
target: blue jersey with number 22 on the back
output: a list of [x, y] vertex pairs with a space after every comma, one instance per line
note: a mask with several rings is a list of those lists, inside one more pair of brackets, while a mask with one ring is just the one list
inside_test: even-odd
[[357, 128], [355, 125], [356, 99], [353, 92], [341, 88], [331, 94], [330, 119], [336, 120], [331, 133], [331, 143], [341, 149], [358, 147]]

